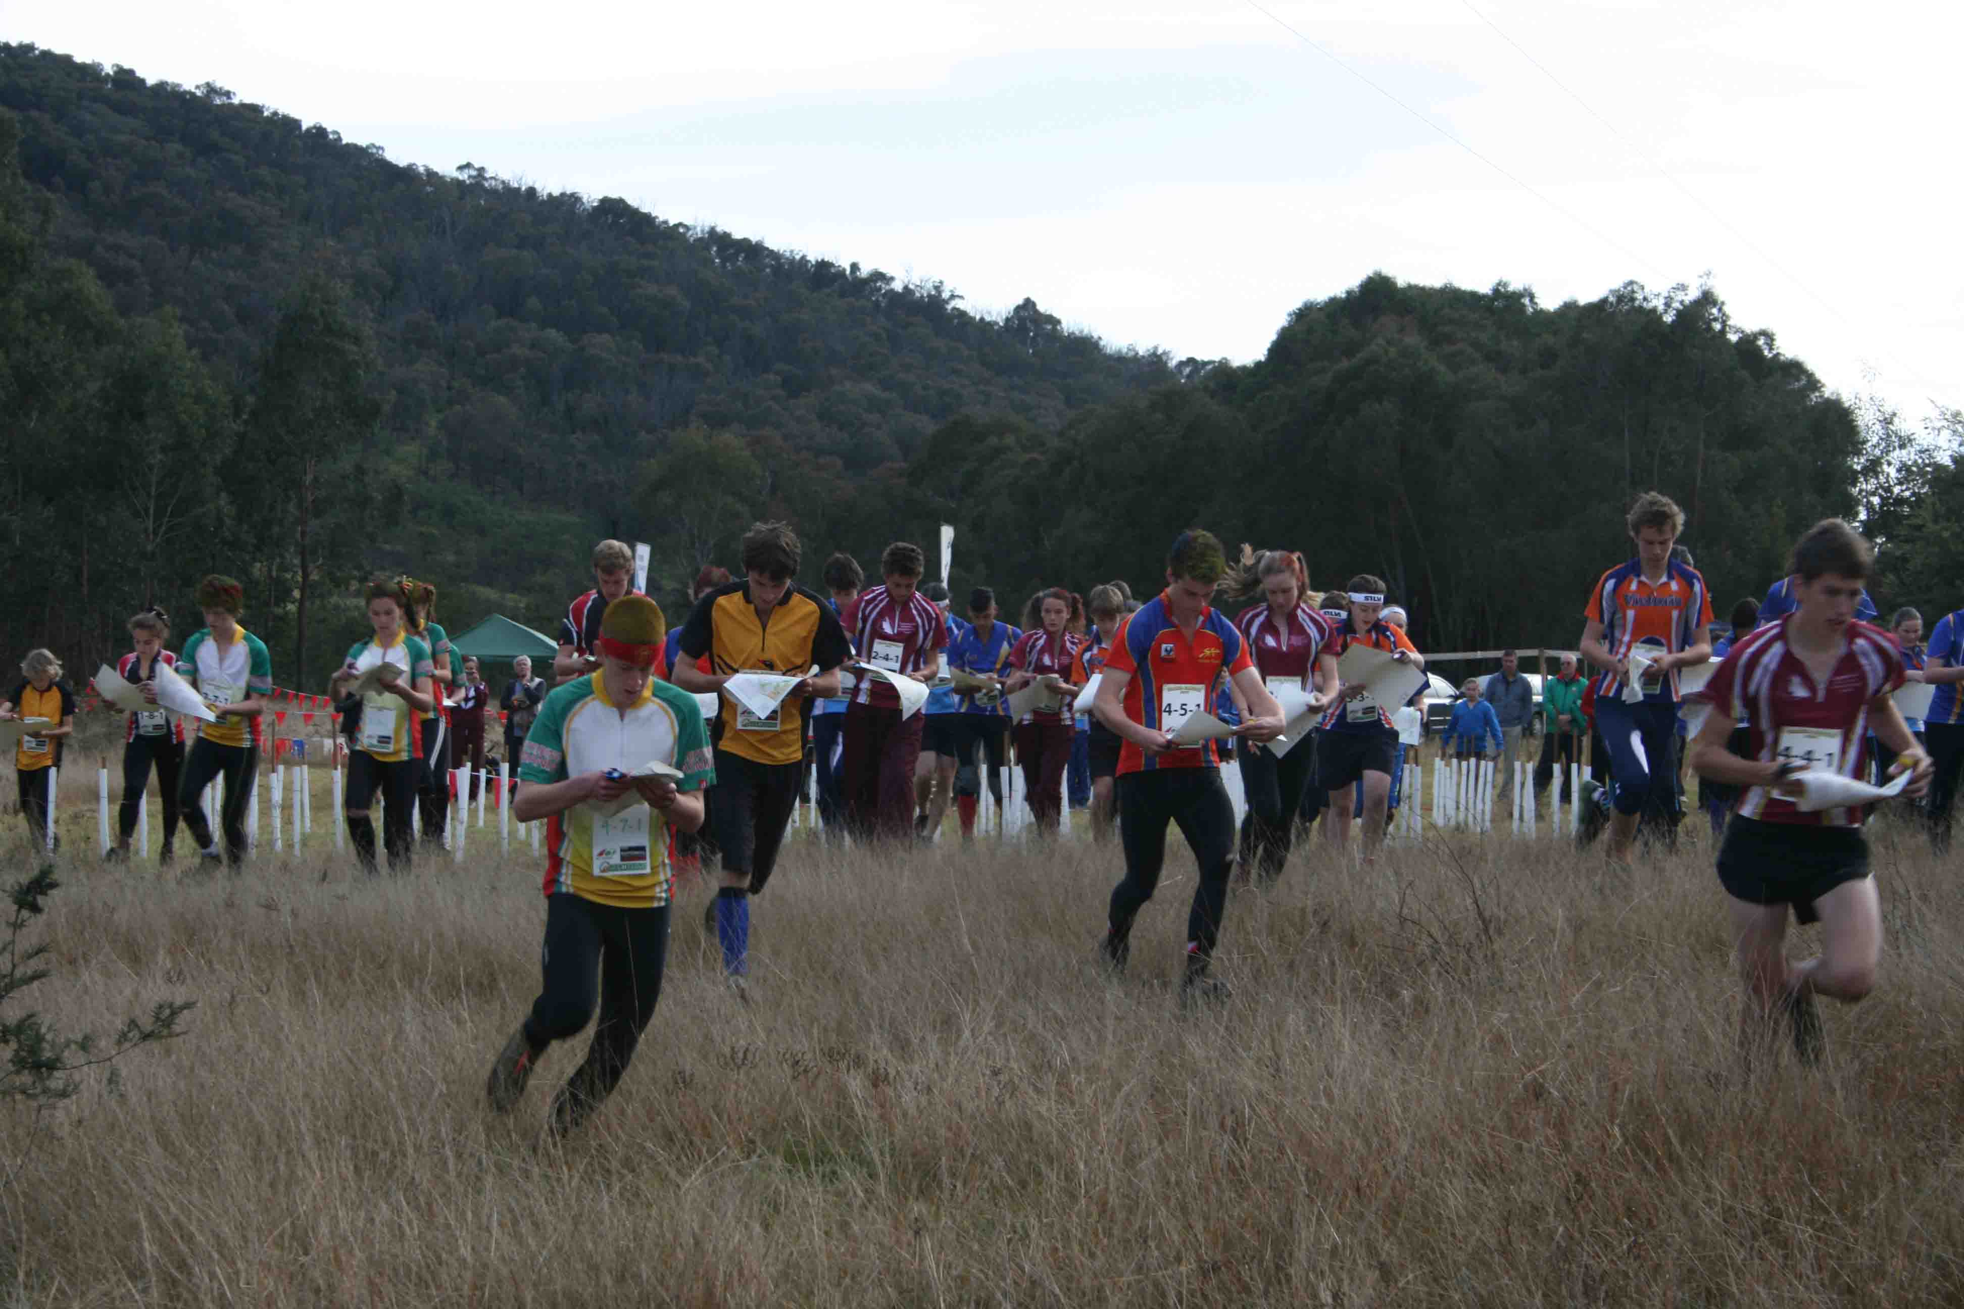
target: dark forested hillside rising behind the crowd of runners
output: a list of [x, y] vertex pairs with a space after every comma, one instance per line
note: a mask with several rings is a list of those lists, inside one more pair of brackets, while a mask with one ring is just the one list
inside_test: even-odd
[[1931, 563], [1964, 475], [1709, 288], [1548, 308], [1379, 275], [1257, 363], [1174, 363], [26, 45], [0, 45], [0, 414], [10, 650], [94, 659], [218, 567], [283, 683], [355, 634], [367, 569], [438, 581], [452, 628], [546, 626], [595, 538], [654, 542], [674, 604], [758, 514], [868, 563], [953, 522], [956, 585], [1011, 597], [1151, 585], [1206, 522], [1320, 585], [1381, 571], [1463, 648], [1571, 642], [1660, 487], [1720, 601], [1830, 512], [1891, 542], [1887, 601], [1964, 601]]

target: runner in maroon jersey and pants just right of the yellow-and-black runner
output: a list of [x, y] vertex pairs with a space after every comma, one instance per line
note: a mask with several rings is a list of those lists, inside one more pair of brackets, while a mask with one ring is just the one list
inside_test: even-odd
[[[933, 685], [949, 628], [915, 587], [927, 567], [919, 546], [894, 542], [880, 555], [882, 585], [862, 591], [841, 614], [862, 663]], [[921, 758], [921, 714], [901, 716], [900, 695], [884, 679], [856, 673], [846, 707], [839, 765], [846, 830], [860, 840], [913, 834], [913, 765]]]

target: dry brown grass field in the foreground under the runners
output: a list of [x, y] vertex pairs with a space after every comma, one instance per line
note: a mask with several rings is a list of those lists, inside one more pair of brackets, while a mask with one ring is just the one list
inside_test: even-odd
[[196, 1009], [75, 1099], [0, 1109], [12, 1299], [1964, 1301], [1964, 909], [1907, 830], [1878, 832], [1882, 985], [1825, 1013], [1817, 1070], [1742, 1058], [1695, 842], [1628, 879], [1548, 838], [1371, 869], [1316, 846], [1235, 891], [1235, 997], [1202, 1013], [1173, 985], [1178, 848], [1110, 981], [1114, 848], [799, 842], [750, 1005], [683, 893], [640, 1054], [566, 1146], [544, 1109], [583, 1038], [483, 1107], [544, 915], [495, 850], [363, 881], [316, 824], [240, 877], [65, 860], [33, 1005]]

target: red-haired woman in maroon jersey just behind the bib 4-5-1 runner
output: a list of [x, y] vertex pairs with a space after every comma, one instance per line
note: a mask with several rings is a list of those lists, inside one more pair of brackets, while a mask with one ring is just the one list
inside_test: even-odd
[[[1228, 579], [1229, 597], [1237, 601], [1263, 597], [1261, 604], [1235, 618], [1235, 626], [1271, 695], [1281, 687], [1322, 697], [1336, 693], [1337, 657], [1326, 648], [1332, 622], [1302, 601], [1308, 589], [1308, 565], [1302, 555], [1286, 550], [1265, 550], [1257, 555], [1243, 546], [1241, 565]], [[1241, 791], [1247, 797], [1243, 848], [1253, 856], [1253, 871], [1265, 883], [1273, 883], [1288, 862], [1302, 793], [1316, 775], [1316, 752], [1308, 742], [1300, 742], [1279, 759], [1267, 748], [1241, 740], [1235, 744], [1235, 754], [1241, 759]]]

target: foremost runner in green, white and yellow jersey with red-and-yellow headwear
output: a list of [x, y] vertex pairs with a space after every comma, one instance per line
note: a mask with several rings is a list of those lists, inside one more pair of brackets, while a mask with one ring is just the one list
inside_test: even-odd
[[[715, 781], [695, 697], [654, 677], [664, 636], [654, 601], [613, 601], [595, 642], [599, 667], [556, 687], [524, 738], [513, 814], [548, 818], [544, 985], [485, 1093], [509, 1113], [546, 1048], [577, 1036], [597, 1009], [587, 1058], [552, 1101], [562, 1136], [613, 1093], [654, 1017], [668, 958], [668, 828], [701, 828], [701, 793]], [[680, 777], [636, 777], [646, 763]], [[632, 803], [601, 812], [621, 799]]]

